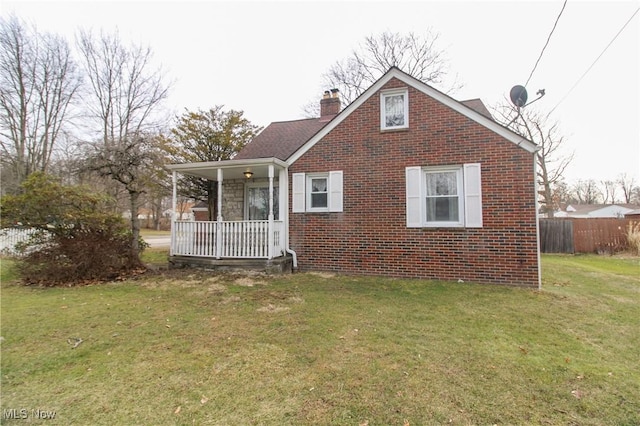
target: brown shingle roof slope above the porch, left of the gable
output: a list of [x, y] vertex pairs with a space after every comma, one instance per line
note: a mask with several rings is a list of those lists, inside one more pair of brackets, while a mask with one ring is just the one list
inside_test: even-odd
[[286, 160], [328, 122], [325, 117], [271, 123], [233, 159], [275, 157]]

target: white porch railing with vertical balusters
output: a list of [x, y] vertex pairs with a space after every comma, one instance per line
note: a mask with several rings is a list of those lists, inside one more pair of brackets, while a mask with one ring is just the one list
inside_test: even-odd
[[283, 252], [282, 221], [273, 221], [273, 251], [269, 252], [269, 221], [174, 221], [171, 254], [220, 258], [269, 259]]

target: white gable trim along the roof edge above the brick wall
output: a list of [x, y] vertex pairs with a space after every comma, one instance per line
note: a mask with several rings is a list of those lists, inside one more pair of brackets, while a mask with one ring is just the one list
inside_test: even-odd
[[[469, 105], [465, 105], [462, 102], [458, 102], [449, 95], [446, 95], [440, 92], [437, 89], [429, 86], [426, 83], [416, 79], [415, 77], [410, 76], [404, 71], [400, 70], [397, 67], [391, 67], [389, 71], [387, 71], [378, 81], [376, 81], [371, 87], [365, 90], [355, 101], [351, 102], [344, 110], [342, 110], [331, 122], [329, 122], [325, 127], [320, 129], [318, 133], [316, 133], [311, 139], [309, 139], [305, 144], [303, 144], [300, 149], [298, 149], [293, 155], [287, 158], [287, 163], [292, 164], [297, 161], [305, 152], [311, 149], [318, 141], [320, 141], [323, 137], [325, 137], [331, 130], [333, 130], [336, 126], [338, 126], [346, 117], [349, 116], [354, 110], [360, 107], [366, 100], [368, 100], [371, 96], [373, 96], [378, 90], [380, 90], [385, 84], [387, 84], [391, 79], [396, 78], [403, 83], [411, 86], [427, 96], [439, 101], [440, 103], [448, 106], [454, 111], [459, 112], [460, 114], [466, 116], [467, 118], [477, 122], [478, 124], [488, 128], [489, 130], [497, 133], [502, 136], [506, 140], [514, 143], [515, 145], [521, 147], [522, 149], [534, 153], [538, 150], [538, 146], [528, 140], [527, 138], [520, 136], [514, 131], [508, 129], [507, 127], [493, 121], [493, 119], [488, 118], [483, 113], [480, 113], [470, 107]], [[485, 108], [486, 109], [486, 108]], [[488, 111], [487, 111], [488, 112]]]

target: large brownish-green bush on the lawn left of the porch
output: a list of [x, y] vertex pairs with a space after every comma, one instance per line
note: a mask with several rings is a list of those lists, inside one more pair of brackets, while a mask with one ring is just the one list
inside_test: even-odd
[[24, 283], [81, 284], [142, 268], [125, 221], [105, 213], [107, 198], [83, 187], [63, 186], [44, 174], [31, 175], [23, 190], [3, 197], [0, 210], [3, 228], [21, 223], [36, 230], [22, 243], [24, 256], [17, 264]]

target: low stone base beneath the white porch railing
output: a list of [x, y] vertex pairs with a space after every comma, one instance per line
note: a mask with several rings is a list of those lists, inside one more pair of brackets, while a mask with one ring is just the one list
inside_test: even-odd
[[293, 270], [293, 257], [286, 255], [275, 259], [212, 259], [208, 257], [169, 256], [169, 268], [196, 268], [223, 272], [258, 271], [267, 274], [284, 274], [291, 273]]

